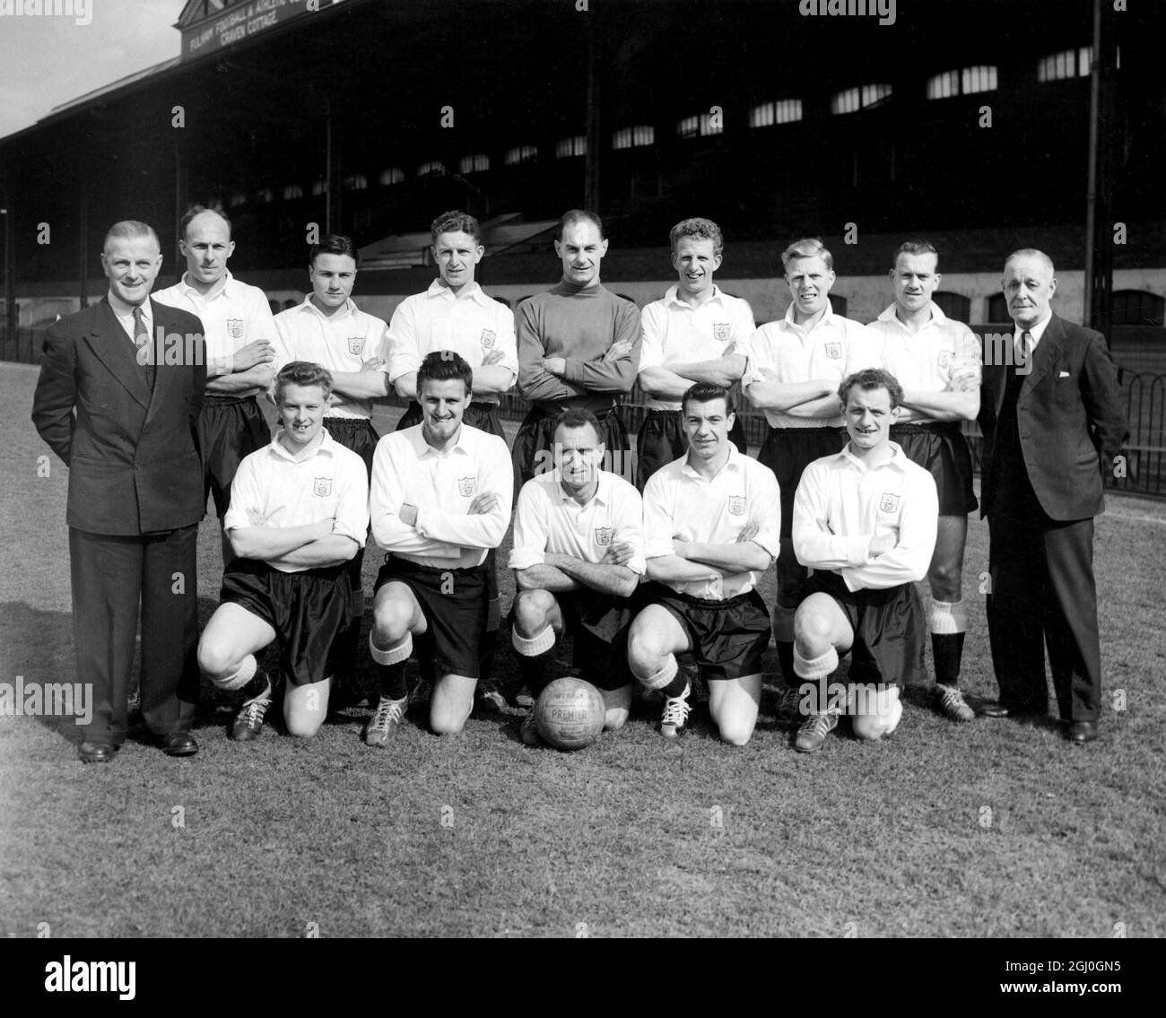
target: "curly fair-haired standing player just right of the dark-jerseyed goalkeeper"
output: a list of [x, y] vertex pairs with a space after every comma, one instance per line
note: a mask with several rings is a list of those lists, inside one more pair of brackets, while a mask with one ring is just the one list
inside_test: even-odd
[[[729, 388], [736, 405], [737, 382], [745, 370], [753, 313], [747, 301], [723, 293], [712, 282], [721, 268], [724, 239], [710, 219], [684, 219], [672, 227], [672, 266], [677, 283], [662, 300], [644, 308], [644, 346], [640, 350], [640, 388], [648, 413], [637, 440], [635, 484], [688, 451], [680, 398], [703, 381]], [[740, 417], [729, 440], [747, 452]]]

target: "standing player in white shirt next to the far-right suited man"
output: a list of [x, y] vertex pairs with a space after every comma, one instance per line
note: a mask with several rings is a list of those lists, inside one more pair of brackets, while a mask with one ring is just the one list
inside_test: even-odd
[[927, 570], [932, 590], [927, 629], [935, 659], [935, 703], [951, 721], [976, 712], [960, 691], [960, 665], [968, 611], [963, 606], [963, 549], [968, 513], [976, 506], [971, 454], [960, 430], [979, 413], [981, 346], [963, 322], [932, 301], [943, 276], [939, 254], [926, 240], [899, 245], [891, 269], [894, 303], [870, 327], [883, 338], [883, 366], [902, 386], [891, 440], [935, 479], [940, 499], [935, 554]]

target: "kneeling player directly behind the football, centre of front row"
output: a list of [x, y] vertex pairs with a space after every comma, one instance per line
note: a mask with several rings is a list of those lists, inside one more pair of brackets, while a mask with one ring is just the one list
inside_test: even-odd
[[[623, 728], [632, 703], [628, 597], [644, 575], [644, 505], [621, 477], [600, 470], [604, 444], [582, 407], [555, 421], [555, 469], [531, 478], [514, 511], [510, 564], [517, 594], [511, 633], [531, 695], [555, 678], [555, 641], [574, 638], [574, 661], [603, 694], [604, 728]], [[522, 742], [539, 743], [534, 711]]]

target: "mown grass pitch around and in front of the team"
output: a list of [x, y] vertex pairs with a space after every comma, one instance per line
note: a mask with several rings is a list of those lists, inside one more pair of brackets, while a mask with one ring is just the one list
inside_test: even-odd
[[[37, 476], [35, 377], [0, 367], [3, 682], [75, 678], [66, 471]], [[1115, 498], [1097, 521], [1108, 691], [1087, 747], [1052, 722], [954, 725], [914, 693], [884, 743], [843, 723], [801, 756], [772, 686], [743, 749], [700, 710], [666, 744], [642, 705], [571, 754], [525, 747], [518, 711], [437, 738], [414, 709], [382, 752], [359, 709], [310, 742], [269, 728], [239, 745], [208, 690], [194, 759], [139, 732], [85, 767], [70, 726], [0, 718], [0, 934], [1160, 936], [1164, 510]], [[986, 561], [974, 520], [964, 684], [992, 695]], [[218, 571], [204, 522], [204, 619]], [[508, 650], [500, 672], [517, 678]]]

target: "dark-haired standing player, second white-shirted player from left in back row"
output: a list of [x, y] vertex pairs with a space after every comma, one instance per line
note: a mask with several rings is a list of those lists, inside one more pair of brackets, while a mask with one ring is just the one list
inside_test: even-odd
[[[331, 233], [308, 252], [311, 293], [303, 303], [275, 316], [276, 364], [322, 364], [332, 378], [324, 427], [332, 441], [356, 452], [372, 473], [377, 430], [373, 400], [388, 394], [385, 373], [388, 343], [384, 320], [361, 311], [352, 300], [358, 252], [351, 237]], [[336, 693], [356, 697], [357, 652], [364, 618], [364, 542], [349, 561], [352, 590], [350, 619], [336, 644]]]

